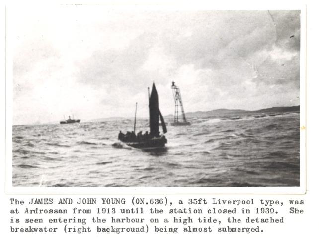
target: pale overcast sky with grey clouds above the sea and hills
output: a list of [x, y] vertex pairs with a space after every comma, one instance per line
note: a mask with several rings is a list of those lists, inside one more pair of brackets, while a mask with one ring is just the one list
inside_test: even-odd
[[299, 105], [300, 11], [11, 11], [13, 124]]

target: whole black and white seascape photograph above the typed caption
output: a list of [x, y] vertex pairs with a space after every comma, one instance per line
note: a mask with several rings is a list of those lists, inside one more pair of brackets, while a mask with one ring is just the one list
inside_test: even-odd
[[13, 187], [300, 187], [300, 10], [7, 17]]

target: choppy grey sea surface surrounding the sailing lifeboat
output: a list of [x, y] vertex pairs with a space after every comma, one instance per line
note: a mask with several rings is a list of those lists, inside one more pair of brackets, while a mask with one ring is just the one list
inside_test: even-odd
[[299, 186], [299, 112], [270, 115], [166, 119], [167, 149], [148, 152], [117, 140], [130, 119], [13, 126], [13, 186]]

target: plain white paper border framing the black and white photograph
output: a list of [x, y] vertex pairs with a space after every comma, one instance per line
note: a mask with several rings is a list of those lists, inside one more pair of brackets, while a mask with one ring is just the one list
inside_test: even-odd
[[[289, 4], [291, 6], [291, 4]], [[201, 10], [203, 5], [196, 5], [195, 10]], [[287, 6], [287, 4], [285, 4]], [[300, 10], [301, 23], [301, 38], [300, 38], [300, 186], [299, 187], [13, 187], [12, 186], [12, 115], [13, 115], [13, 72], [12, 62], [13, 54], [10, 45], [10, 28], [8, 27], [8, 13], [13, 6], [6, 7], [6, 42], [5, 42], [5, 179], [4, 193], [5, 194], [305, 194], [307, 189], [307, 71], [306, 71], [306, 56], [307, 56], [307, 7], [299, 5], [297, 8], [286, 8], [277, 6], [265, 7], [259, 6], [254, 9], [240, 10]], [[131, 6], [133, 7], [133, 6]], [[157, 6], [134, 6], [147, 7], [147, 9], [155, 9]], [[168, 10], [194, 10], [194, 6], [160, 6], [161, 10], [167, 7]], [[213, 8], [212, 8], [213, 7]], [[226, 6], [227, 7], [227, 6]], [[233, 6], [234, 7], [234, 6]], [[134, 8], [134, 10], [136, 10]], [[216, 8], [213, 5], [206, 5], [205, 10], [235, 10]]]

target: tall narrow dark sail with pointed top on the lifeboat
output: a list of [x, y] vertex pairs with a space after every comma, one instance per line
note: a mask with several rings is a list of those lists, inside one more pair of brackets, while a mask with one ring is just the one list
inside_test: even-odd
[[150, 135], [159, 136], [159, 97], [153, 83], [152, 92], [149, 100], [150, 109]]

